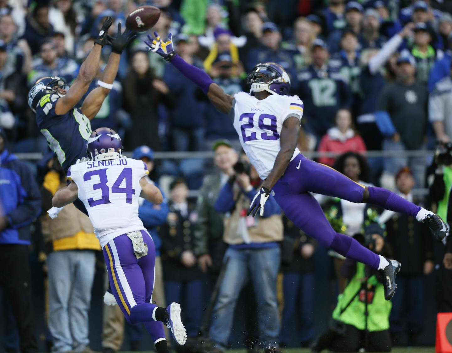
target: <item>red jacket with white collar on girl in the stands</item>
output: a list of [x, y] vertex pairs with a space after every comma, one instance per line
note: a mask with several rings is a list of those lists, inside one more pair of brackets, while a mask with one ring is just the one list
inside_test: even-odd
[[[345, 152], [365, 152], [366, 144], [361, 136], [349, 129], [344, 134], [337, 127], [331, 127], [320, 140], [319, 152], [335, 152], [342, 155]], [[319, 162], [326, 165], [334, 164], [334, 157], [321, 157]]]

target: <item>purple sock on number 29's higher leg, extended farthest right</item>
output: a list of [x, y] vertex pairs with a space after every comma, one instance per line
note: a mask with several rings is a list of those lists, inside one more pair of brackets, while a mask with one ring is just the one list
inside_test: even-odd
[[374, 205], [380, 206], [386, 210], [405, 213], [416, 218], [421, 207], [415, 205], [413, 202], [405, 200], [405, 198], [396, 195], [395, 193], [384, 188], [370, 187], [369, 201]]

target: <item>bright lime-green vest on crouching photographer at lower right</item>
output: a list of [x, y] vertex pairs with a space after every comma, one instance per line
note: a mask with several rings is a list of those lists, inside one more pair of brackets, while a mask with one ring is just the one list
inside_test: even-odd
[[[350, 279], [344, 293], [338, 297], [338, 305], [333, 311], [333, 318], [352, 325], [359, 330], [366, 329], [366, 317], [364, 315], [365, 302], [360, 301], [365, 297], [365, 290], [363, 289], [358, 296], [356, 296], [352, 303], [343, 311], [343, 308], [351, 301], [353, 296], [362, 287], [362, 279], [365, 277], [366, 266], [360, 262], [356, 263], [356, 273]], [[367, 280], [368, 296], [372, 296], [369, 292], [374, 291], [373, 300], [367, 304], [367, 329], [369, 332], [383, 331], [389, 329], [389, 314], [391, 313], [392, 303], [385, 300], [384, 287], [381, 282], [377, 280], [375, 275], [372, 275]]]

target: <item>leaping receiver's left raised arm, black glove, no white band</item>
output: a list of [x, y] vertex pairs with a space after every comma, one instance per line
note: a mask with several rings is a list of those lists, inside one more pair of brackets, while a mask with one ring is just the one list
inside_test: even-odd
[[108, 44], [107, 32], [112, 24], [113, 18], [107, 17], [99, 32], [99, 38], [94, 40], [94, 47], [89, 52], [88, 57], [80, 66], [79, 74], [67, 93], [58, 99], [55, 105], [55, 113], [66, 114], [75, 107], [89, 88], [89, 84], [97, 74], [102, 47]]

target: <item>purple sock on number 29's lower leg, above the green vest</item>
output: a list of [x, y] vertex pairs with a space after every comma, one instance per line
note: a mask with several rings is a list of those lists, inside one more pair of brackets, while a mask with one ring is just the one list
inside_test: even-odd
[[362, 262], [375, 269], [378, 269], [378, 264], [380, 264], [380, 258], [377, 254], [359, 244], [351, 236], [345, 234], [336, 233], [330, 248], [346, 258]]

